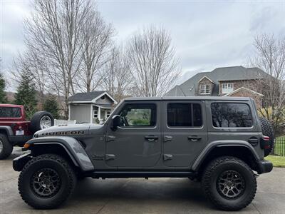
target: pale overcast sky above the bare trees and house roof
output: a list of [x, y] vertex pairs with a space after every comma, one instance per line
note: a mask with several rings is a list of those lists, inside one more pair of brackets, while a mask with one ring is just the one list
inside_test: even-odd
[[[8, 70], [24, 51], [23, 20], [31, 1], [0, 0], [0, 56]], [[98, 1], [105, 21], [112, 23], [118, 43], [152, 24], [170, 31], [180, 58], [182, 78], [198, 71], [247, 63], [258, 32], [285, 35], [284, 1]]]

